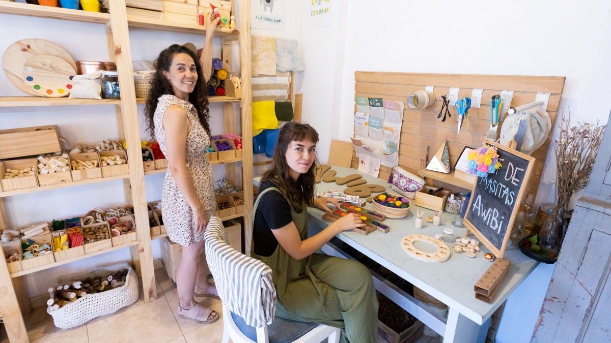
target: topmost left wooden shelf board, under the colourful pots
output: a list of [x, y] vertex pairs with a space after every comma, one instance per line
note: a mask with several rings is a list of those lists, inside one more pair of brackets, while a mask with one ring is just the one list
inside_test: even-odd
[[87, 23], [106, 24], [110, 20], [108, 13], [87, 12], [82, 10], [62, 9], [42, 5], [23, 4], [21, 2], [0, 2], [0, 13], [40, 16], [64, 20], [85, 21]]

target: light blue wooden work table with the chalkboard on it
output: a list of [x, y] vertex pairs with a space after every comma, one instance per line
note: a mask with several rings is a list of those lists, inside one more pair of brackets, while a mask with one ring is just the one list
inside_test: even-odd
[[[358, 173], [370, 184], [389, 186], [382, 179], [359, 173], [354, 168], [334, 166], [332, 169], [337, 171], [338, 177]], [[259, 181], [260, 178], [255, 178], [255, 185], [258, 186]], [[316, 192], [324, 192], [329, 189], [341, 191], [345, 188], [345, 186], [338, 186], [335, 182], [321, 182], [316, 185]], [[387, 190], [390, 191], [390, 187], [387, 187]], [[361, 200], [364, 200], [364, 198], [361, 198]], [[367, 203], [365, 208], [373, 209], [373, 204]], [[483, 342], [482, 338], [485, 338], [485, 331], [488, 330], [492, 313], [535, 269], [538, 262], [522, 254], [516, 245], [508, 247], [505, 258], [511, 261], [511, 269], [493, 302], [485, 303], [477, 300], [473, 286], [491, 265], [491, 262], [483, 258], [483, 253], [489, 252], [488, 249], [480, 244], [482, 251], [477, 252], [476, 258], [469, 258], [464, 253], [455, 253], [452, 244], [448, 244], [452, 256], [445, 262], [429, 263], [411, 258], [400, 246], [401, 239], [408, 234], [417, 233], [434, 236], [441, 233], [444, 228], [452, 228], [455, 236], [464, 237], [466, 232], [465, 228], [456, 228], [450, 223], [453, 214], [447, 212], [442, 214], [441, 225], [434, 226], [432, 223], [425, 222], [422, 228], [417, 229], [414, 226], [416, 209], [424, 211], [425, 218], [433, 217], [433, 211], [412, 205], [407, 217], [384, 221], [384, 224], [390, 226], [389, 233], [373, 231], [373, 233], [364, 236], [352, 231], [345, 231], [338, 234], [337, 238], [447, 305], [448, 317], [446, 319], [394, 284], [373, 273], [374, 284], [379, 292], [441, 334], [444, 337], [444, 343]], [[308, 213], [310, 235], [318, 233], [329, 225], [322, 219], [323, 211], [309, 208]], [[351, 258], [332, 244], [325, 245], [321, 250], [327, 255]]]

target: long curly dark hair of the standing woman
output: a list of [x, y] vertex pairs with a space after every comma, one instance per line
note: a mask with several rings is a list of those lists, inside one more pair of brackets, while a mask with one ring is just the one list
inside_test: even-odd
[[199, 117], [200, 123], [203, 128], [210, 135], [210, 124], [208, 124], [208, 118], [210, 113], [208, 112], [208, 96], [207, 96], [207, 80], [203, 79], [202, 64], [199, 62], [199, 57], [191, 49], [184, 45], [173, 44], [170, 45], [164, 51], [161, 51], [159, 57], [155, 60], [155, 76], [153, 77], [153, 83], [151, 90], [148, 93], [147, 104], [144, 107], [144, 116], [147, 120], [147, 130], [151, 137], [155, 138], [155, 122], [153, 116], [155, 115], [155, 109], [159, 103], [159, 96], [170, 94], [174, 95], [172, 85], [167, 80], [163, 71], [170, 71], [172, 65], [172, 59], [175, 54], [188, 54], [195, 62], [197, 70], [197, 82], [195, 88], [191, 94], [189, 94], [189, 103], [191, 103], [197, 110], [197, 117]]

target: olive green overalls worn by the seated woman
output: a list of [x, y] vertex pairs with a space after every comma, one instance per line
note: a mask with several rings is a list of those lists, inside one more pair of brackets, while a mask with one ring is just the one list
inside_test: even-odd
[[[262, 195], [257, 197], [253, 212]], [[307, 207], [296, 213], [293, 223], [301, 240], [307, 239]], [[273, 210], [271, 210], [273, 211]], [[356, 261], [313, 254], [297, 261], [278, 244], [271, 256], [258, 256], [251, 243], [251, 256], [269, 265], [277, 291], [276, 316], [341, 328], [340, 342], [372, 343], [378, 330], [378, 300], [371, 273]]]

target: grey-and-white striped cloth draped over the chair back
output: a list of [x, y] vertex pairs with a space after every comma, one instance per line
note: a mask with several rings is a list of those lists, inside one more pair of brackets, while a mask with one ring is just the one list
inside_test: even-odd
[[251, 327], [271, 324], [276, 316], [276, 288], [268, 265], [232, 248], [219, 217], [210, 218], [203, 237], [208, 266], [223, 305]]

